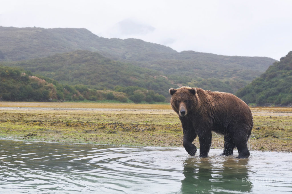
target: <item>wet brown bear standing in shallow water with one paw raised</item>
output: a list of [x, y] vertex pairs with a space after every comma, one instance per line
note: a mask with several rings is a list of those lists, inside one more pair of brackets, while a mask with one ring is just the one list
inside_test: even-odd
[[233, 94], [201, 88], [171, 88], [169, 93], [171, 107], [182, 123], [183, 146], [187, 153], [196, 154], [197, 147], [192, 142], [199, 136], [199, 156], [208, 157], [211, 131], [215, 131], [224, 135], [221, 155], [233, 155], [233, 149], [237, 147], [238, 158], [248, 158], [246, 142], [253, 128], [253, 116], [246, 103]]

